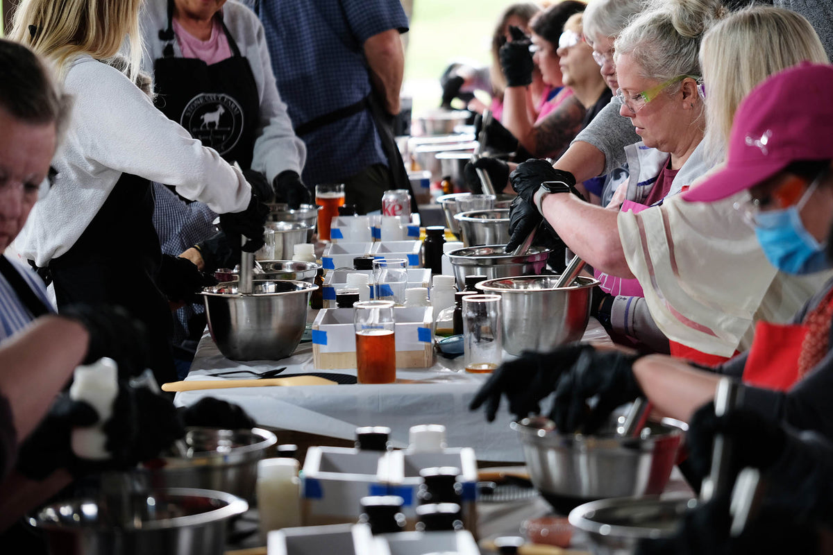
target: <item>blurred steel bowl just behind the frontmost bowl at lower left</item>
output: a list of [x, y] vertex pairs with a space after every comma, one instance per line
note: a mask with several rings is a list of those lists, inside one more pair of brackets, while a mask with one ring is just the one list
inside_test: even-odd
[[257, 463], [277, 437], [265, 429], [190, 428], [182, 453], [148, 468], [154, 488], [201, 488], [254, 501]]

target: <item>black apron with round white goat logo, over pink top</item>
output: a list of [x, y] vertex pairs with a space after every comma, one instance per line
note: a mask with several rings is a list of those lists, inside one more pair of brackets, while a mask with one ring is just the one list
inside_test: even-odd
[[173, 0], [169, 0], [167, 29], [159, 32], [166, 44], [153, 64], [154, 104], [224, 160], [248, 170], [260, 124], [260, 96], [249, 61], [240, 54], [222, 16], [217, 17], [232, 57], [210, 66], [196, 58], [174, 57]]

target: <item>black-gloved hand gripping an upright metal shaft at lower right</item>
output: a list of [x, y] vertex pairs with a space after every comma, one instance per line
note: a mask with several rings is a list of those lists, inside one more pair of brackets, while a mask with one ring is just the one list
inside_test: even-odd
[[731, 439], [732, 476], [747, 466], [770, 468], [786, 444], [786, 432], [780, 424], [742, 409], [718, 417], [711, 401], [696, 410], [689, 424], [686, 442], [691, 471], [700, 479], [711, 472], [711, 451], [717, 434]]

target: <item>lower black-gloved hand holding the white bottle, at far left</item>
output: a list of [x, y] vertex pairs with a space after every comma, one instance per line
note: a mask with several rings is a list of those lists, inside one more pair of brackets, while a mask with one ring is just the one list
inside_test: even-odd
[[41, 423], [20, 444], [17, 471], [33, 480], [46, 478], [58, 468], [75, 473], [78, 458], [70, 445], [72, 429], [97, 421], [92, 405], [72, 400], [65, 392], [58, 394]]

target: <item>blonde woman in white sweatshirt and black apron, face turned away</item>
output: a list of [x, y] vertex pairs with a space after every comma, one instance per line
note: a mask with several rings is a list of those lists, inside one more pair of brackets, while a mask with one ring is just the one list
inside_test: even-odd
[[[176, 379], [167, 300], [201, 278], [187, 260], [162, 259], [150, 181], [176, 187], [222, 214], [227, 233], [262, 244], [265, 207], [242, 173], [153, 107], [132, 82], [142, 48], [141, 0], [22, 0], [12, 38], [51, 61], [74, 97], [52, 194], [37, 203], [16, 242], [45, 270], [58, 309], [72, 302], [122, 305], [147, 327], [157, 380]], [[99, 61], [122, 45], [127, 75]], [[237, 241], [239, 245], [239, 240]]]

